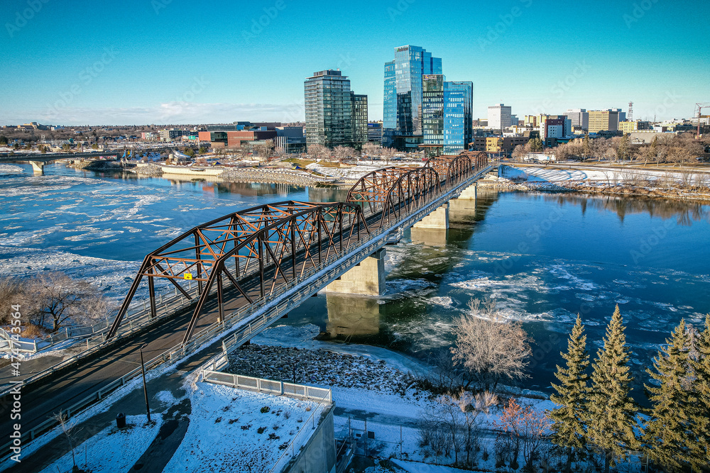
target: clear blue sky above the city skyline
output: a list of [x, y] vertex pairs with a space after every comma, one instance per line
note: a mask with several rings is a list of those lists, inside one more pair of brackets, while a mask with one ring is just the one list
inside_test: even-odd
[[407, 44], [474, 82], [474, 117], [710, 102], [707, 1], [2, 3], [2, 124], [302, 120], [303, 79], [337, 67], [381, 119], [383, 63]]

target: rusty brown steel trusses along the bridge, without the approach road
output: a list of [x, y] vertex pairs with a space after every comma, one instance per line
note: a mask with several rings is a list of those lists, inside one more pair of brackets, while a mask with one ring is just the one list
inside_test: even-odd
[[[265, 204], [192, 228], [145, 257], [107, 338], [118, 333], [143, 282], [148, 284], [151, 317], [157, 316], [155, 280], [167, 279], [176, 294], [194, 305], [182, 339], [186, 344], [209, 299], [216, 297], [221, 323], [227, 301], [231, 308], [258, 308], [276, 294], [283, 296], [283, 286], [306, 282], [340, 259], [355, 256], [358, 265], [488, 169], [481, 152], [437, 157], [425, 167], [386, 167], [359, 179], [345, 202]], [[374, 248], [368, 245], [373, 241]], [[190, 291], [195, 282], [196, 293]]]

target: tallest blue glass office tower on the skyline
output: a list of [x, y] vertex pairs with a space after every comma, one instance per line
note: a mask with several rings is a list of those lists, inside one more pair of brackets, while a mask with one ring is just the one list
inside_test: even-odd
[[416, 150], [423, 143], [422, 77], [442, 74], [442, 60], [419, 46], [395, 48], [385, 63], [382, 145]]

